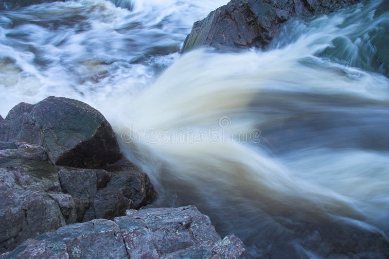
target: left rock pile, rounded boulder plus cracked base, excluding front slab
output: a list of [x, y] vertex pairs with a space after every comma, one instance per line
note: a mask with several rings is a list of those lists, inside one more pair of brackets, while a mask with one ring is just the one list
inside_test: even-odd
[[0, 121], [0, 139], [0, 252], [66, 224], [122, 216], [155, 197], [87, 104], [55, 97], [18, 104]]

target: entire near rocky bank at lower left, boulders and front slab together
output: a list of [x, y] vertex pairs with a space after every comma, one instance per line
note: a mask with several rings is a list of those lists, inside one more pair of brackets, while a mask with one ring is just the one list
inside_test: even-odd
[[245, 258], [195, 207], [135, 210], [155, 196], [88, 104], [49, 97], [0, 119], [1, 258]]

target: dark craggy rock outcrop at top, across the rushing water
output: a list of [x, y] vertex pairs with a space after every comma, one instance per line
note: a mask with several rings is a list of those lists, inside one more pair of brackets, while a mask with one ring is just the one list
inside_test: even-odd
[[216, 49], [264, 48], [280, 25], [293, 17], [336, 11], [360, 0], [231, 0], [195, 22], [182, 52], [211, 46]]

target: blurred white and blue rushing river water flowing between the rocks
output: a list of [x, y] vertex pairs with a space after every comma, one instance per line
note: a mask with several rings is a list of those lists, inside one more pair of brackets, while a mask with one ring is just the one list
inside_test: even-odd
[[226, 2], [2, 12], [0, 114], [50, 95], [91, 104], [152, 178], [156, 205], [194, 204], [252, 257], [385, 249], [389, 2], [289, 21], [265, 52], [180, 56], [193, 22]]

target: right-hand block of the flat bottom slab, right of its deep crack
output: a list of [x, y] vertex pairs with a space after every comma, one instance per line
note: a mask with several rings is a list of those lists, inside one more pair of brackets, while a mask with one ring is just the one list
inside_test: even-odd
[[233, 242], [223, 243], [210, 219], [194, 206], [128, 210], [126, 214], [115, 222], [131, 258], [246, 258], [243, 243], [233, 236]]

